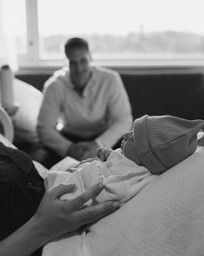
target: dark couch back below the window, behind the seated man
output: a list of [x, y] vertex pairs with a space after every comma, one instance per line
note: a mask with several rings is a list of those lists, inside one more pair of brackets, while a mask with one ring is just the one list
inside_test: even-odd
[[[16, 75], [42, 91], [50, 75]], [[132, 105], [134, 118], [174, 115], [204, 119], [204, 84], [201, 73], [121, 74]]]

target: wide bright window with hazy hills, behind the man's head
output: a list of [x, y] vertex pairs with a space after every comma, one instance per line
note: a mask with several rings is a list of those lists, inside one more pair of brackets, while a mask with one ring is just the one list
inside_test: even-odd
[[[103, 62], [168, 64], [204, 59], [203, 0], [21, 0], [27, 3], [27, 58], [63, 59], [68, 37], [88, 39]], [[20, 17], [20, 16], [19, 16]], [[24, 13], [16, 35], [25, 52]]]

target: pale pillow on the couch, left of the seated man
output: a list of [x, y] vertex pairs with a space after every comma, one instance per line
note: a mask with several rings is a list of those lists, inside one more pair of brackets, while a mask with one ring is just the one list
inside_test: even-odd
[[19, 79], [14, 79], [14, 102], [19, 109], [12, 117], [16, 142], [38, 141], [36, 125], [37, 117], [43, 101], [43, 93], [34, 86]]

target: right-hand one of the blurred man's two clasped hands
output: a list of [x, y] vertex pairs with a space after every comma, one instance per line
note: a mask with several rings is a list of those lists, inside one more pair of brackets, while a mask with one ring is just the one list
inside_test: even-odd
[[77, 143], [77, 145], [82, 147], [84, 151], [82, 154], [81, 160], [84, 160], [87, 158], [95, 158], [97, 156], [98, 145], [94, 140], [82, 141]]

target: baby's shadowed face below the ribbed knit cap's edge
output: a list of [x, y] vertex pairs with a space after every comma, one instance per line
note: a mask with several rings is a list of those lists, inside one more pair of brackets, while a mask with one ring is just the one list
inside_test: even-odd
[[133, 131], [128, 131], [123, 135], [122, 154], [134, 161], [137, 165], [141, 165], [140, 159], [137, 156], [135, 138]]

